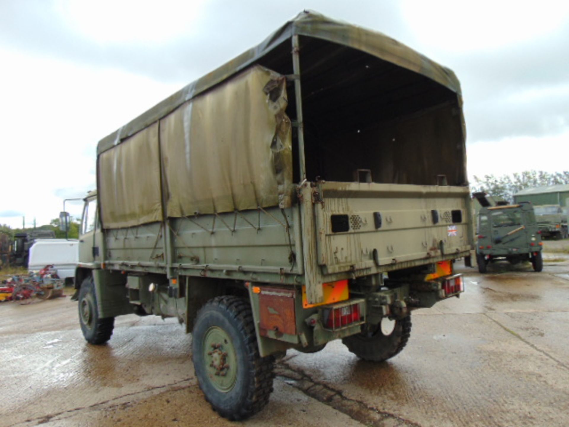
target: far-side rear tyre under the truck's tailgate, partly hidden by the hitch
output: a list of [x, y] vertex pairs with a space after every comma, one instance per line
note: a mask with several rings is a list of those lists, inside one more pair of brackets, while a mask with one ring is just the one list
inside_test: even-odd
[[384, 362], [399, 354], [411, 335], [411, 315], [395, 321], [391, 334], [384, 335], [378, 325], [374, 332], [347, 336], [342, 343], [360, 359]]

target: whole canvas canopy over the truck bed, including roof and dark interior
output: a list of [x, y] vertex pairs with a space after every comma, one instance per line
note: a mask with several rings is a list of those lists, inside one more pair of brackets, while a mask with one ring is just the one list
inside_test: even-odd
[[[306, 159], [295, 151], [294, 167], [284, 75], [302, 80]], [[303, 12], [99, 142], [102, 225], [288, 207], [297, 163], [311, 180], [369, 169], [373, 182], [444, 175], [464, 185], [461, 105], [450, 69], [379, 32]], [[287, 112], [296, 116], [295, 102]], [[150, 147], [132, 154], [139, 140]]]

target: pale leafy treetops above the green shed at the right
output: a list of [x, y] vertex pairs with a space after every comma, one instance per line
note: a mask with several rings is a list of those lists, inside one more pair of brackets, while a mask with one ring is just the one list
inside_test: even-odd
[[512, 175], [474, 176], [472, 191], [485, 191], [490, 196], [500, 196], [512, 203], [514, 194], [526, 188], [569, 184], [569, 171], [549, 173], [546, 171], [523, 171]]

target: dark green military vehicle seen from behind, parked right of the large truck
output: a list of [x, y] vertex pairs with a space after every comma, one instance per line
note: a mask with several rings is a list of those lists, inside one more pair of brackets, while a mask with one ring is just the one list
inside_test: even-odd
[[483, 192], [475, 193], [483, 206], [478, 214], [476, 263], [480, 273], [488, 264], [509, 261], [510, 264], [530, 261], [536, 272], [543, 270], [542, 239], [530, 202], [498, 203], [491, 206]]

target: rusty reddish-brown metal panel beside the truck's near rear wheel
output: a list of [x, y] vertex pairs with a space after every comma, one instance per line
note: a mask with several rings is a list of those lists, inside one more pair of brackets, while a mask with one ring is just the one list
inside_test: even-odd
[[263, 287], [259, 294], [259, 333], [296, 335], [295, 291]]

